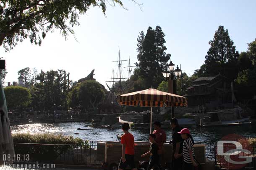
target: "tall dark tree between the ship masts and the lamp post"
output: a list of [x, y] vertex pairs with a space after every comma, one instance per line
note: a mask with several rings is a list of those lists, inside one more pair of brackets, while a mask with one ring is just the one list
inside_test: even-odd
[[162, 71], [167, 69], [167, 62], [170, 59], [170, 54], [166, 53], [165, 33], [162, 28], [157, 26], [156, 29], [149, 27], [144, 35], [141, 31], [138, 36], [137, 58], [139, 63], [136, 63], [135, 77], [141, 77], [146, 82], [147, 87], [153, 86], [157, 88], [162, 82]]

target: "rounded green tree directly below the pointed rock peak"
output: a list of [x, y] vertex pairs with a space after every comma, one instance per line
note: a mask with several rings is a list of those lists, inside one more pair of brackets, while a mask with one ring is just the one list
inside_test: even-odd
[[69, 94], [69, 104], [73, 107], [80, 105], [81, 109], [93, 107], [96, 110], [99, 102], [104, 99], [105, 91], [104, 86], [99, 82], [86, 80], [73, 87]]

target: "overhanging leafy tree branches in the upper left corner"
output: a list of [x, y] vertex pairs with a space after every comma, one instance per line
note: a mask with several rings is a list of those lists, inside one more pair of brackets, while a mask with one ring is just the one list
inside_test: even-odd
[[[121, 0], [110, 2], [123, 7]], [[100, 7], [105, 14], [106, 0], [1, 0], [0, 46], [9, 51], [26, 38], [41, 45], [46, 34], [55, 28], [66, 39], [68, 33], [74, 34], [72, 27], [79, 25], [79, 14], [91, 6]]]

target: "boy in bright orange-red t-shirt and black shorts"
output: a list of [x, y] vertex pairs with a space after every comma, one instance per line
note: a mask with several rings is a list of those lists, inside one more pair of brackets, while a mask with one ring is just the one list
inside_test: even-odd
[[137, 170], [134, 162], [134, 137], [129, 133], [129, 124], [123, 123], [122, 129], [124, 132], [121, 137], [122, 157], [118, 169], [124, 170], [129, 165], [131, 170]]

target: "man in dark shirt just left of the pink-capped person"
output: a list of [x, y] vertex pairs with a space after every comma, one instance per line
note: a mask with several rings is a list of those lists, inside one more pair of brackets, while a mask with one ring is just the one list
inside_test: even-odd
[[173, 147], [173, 155], [172, 155], [172, 170], [181, 170], [182, 169], [182, 162], [183, 157], [179, 157], [178, 154], [182, 153], [182, 142], [183, 139], [181, 138], [180, 130], [182, 129], [176, 118], [171, 119], [171, 126], [172, 126], [172, 147]]

